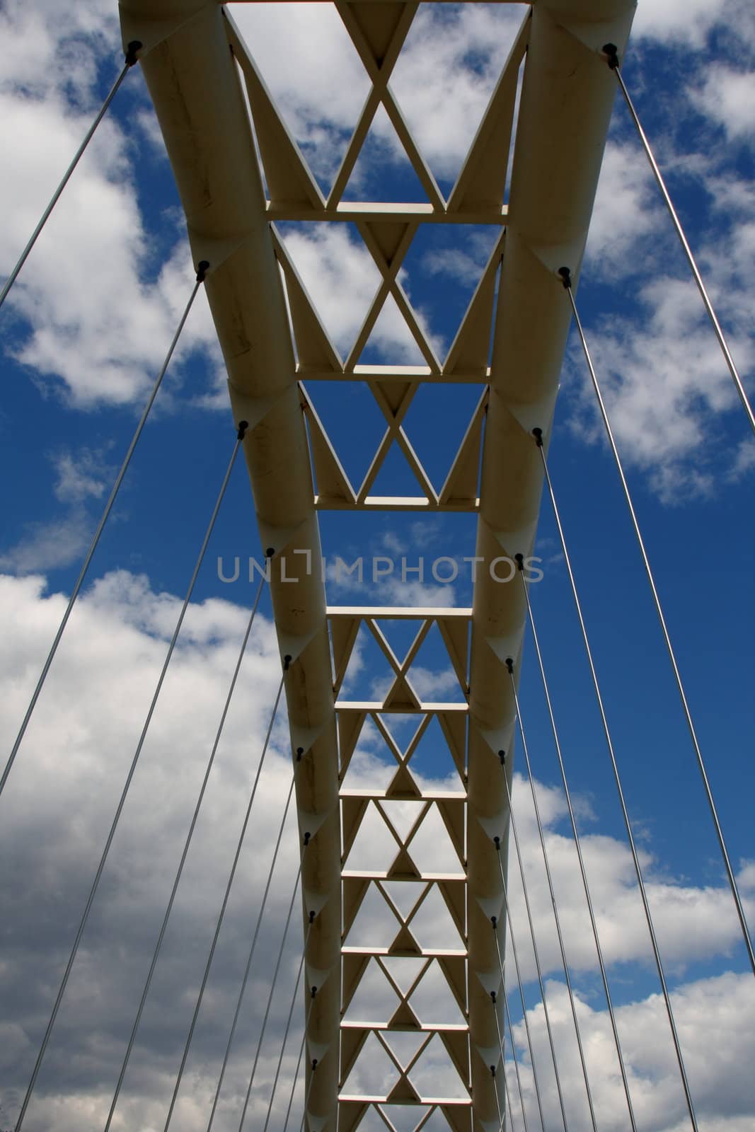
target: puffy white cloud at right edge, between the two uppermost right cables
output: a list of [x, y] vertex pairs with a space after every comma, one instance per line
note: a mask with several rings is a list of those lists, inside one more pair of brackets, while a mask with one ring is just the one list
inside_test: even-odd
[[[713, 266], [713, 301], [720, 295], [726, 302], [729, 348], [747, 380], [755, 345], [745, 321], [747, 286], [738, 271], [745, 234], [739, 230], [720, 240], [702, 259]], [[720, 427], [719, 415], [738, 405], [729, 370], [692, 281], [663, 275], [642, 285], [636, 299], [641, 318], [614, 318], [586, 332], [619, 452], [647, 473], [664, 503], [710, 495], [722, 472], [709, 463], [710, 436]], [[576, 344], [573, 366], [582, 392], [570, 423], [595, 440], [602, 424]], [[737, 457], [723, 471], [732, 477], [747, 470], [747, 461]]]

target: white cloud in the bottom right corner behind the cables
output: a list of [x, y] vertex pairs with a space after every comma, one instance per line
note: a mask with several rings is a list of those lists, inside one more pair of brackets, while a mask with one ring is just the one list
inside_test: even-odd
[[[567, 1114], [573, 1118], [578, 1116], [576, 1126], [586, 1126], [590, 1117], [566, 988], [549, 983], [546, 993]], [[700, 1127], [710, 1132], [744, 1132], [755, 1112], [755, 1088], [752, 1079], [740, 1071], [755, 1056], [755, 1038], [747, 1022], [755, 1005], [752, 975], [727, 974], [701, 979], [680, 987], [671, 997]], [[650, 995], [620, 1006], [616, 1014], [638, 1127], [647, 1132], [680, 1132], [688, 1127], [661, 996]], [[628, 1117], [608, 1012], [593, 1010], [580, 1000], [578, 1018], [599, 1126], [606, 1132], [619, 1132], [627, 1126]], [[529, 1011], [529, 1021], [539, 1079], [544, 1078], [548, 1086], [543, 1090], [546, 1118], [557, 1126], [558, 1105], [541, 1006]], [[514, 1034], [520, 1058], [529, 1062], [522, 1022], [514, 1026]], [[534, 1113], [530, 1065], [521, 1064], [520, 1072], [527, 1113]], [[516, 1086], [509, 1067], [512, 1088]]]

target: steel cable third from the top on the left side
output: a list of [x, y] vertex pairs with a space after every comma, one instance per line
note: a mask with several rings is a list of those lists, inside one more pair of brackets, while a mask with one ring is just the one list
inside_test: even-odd
[[40, 1067], [42, 1065], [42, 1061], [44, 1058], [45, 1050], [48, 1048], [48, 1044], [50, 1041], [50, 1036], [52, 1034], [52, 1028], [55, 1024], [55, 1019], [58, 1017], [58, 1011], [60, 1009], [60, 1003], [62, 1002], [62, 997], [63, 997], [63, 995], [66, 993], [66, 987], [68, 986], [68, 979], [69, 979], [71, 969], [74, 967], [74, 962], [76, 960], [76, 955], [78, 953], [79, 944], [81, 942], [81, 936], [84, 935], [84, 929], [85, 929], [85, 927], [87, 925], [87, 921], [88, 921], [88, 918], [89, 918], [89, 912], [92, 910], [92, 904], [94, 903], [94, 898], [96, 895], [97, 889], [100, 887], [100, 881], [102, 878], [102, 874], [103, 874], [103, 871], [104, 871], [104, 867], [105, 867], [105, 863], [108, 860], [108, 855], [110, 854], [110, 847], [112, 846], [113, 838], [115, 835], [115, 830], [118, 827], [118, 823], [120, 821], [120, 816], [121, 816], [121, 814], [123, 812], [123, 806], [126, 805], [126, 799], [128, 797], [128, 792], [129, 792], [129, 789], [131, 787], [131, 782], [134, 780], [134, 774], [136, 772], [136, 767], [137, 767], [137, 764], [139, 762], [139, 756], [141, 754], [141, 748], [144, 747], [144, 743], [145, 743], [146, 737], [147, 737], [147, 731], [149, 730], [149, 724], [152, 722], [152, 717], [154, 715], [155, 707], [157, 705], [157, 700], [160, 697], [160, 693], [162, 691], [163, 683], [165, 680], [165, 676], [168, 674], [168, 668], [169, 668], [169, 664], [170, 664], [171, 659], [173, 657], [173, 652], [175, 650], [175, 644], [177, 644], [177, 641], [178, 641], [178, 637], [179, 637], [179, 633], [181, 632], [181, 626], [183, 625], [183, 618], [186, 617], [186, 611], [189, 608], [189, 601], [191, 600], [191, 594], [194, 593], [194, 588], [195, 588], [197, 577], [199, 575], [199, 569], [201, 567], [201, 564], [203, 564], [203, 560], [204, 560], [204, 557], [205, 557], [205, 552], [207, 550], [207, 546], [209, 543], [209, 539], [211, 539], [211, 535], [213, 533], [213, 529], [215, 526], [215, 521], [217, 518], [218, 512], [221, 509], [221, 505], [223, 503], [223, 498], [225, 496], [225, 490], [226, 490], [229, 481], [231, 479], [231, 472], [233, 471], [233, 465], [235, 463], [235, 457], [239, 454], [239, 448], [241, 447], [241, 444], [242, 444], [242, 440], [243, 440], [243, 436], [244, 436], [244, 434], [247, 431], [247, 428], [248, 428], [248, 424], [247, 424], [246, 421], [241, 421], [239, 423], [239, 429], [238, 429], [238, 434], [237, 434], [235, 444], [233, 445], [233, 452], [231, 454], [231, 458], [230, 458], [228, 468], [225, 470], [225, 474], [223, 477], [223, 482], [221, 484], [221, 489], [218, 491], [217, 499], [215, 500], [215, 506], [213, 507], [213, 513], [211, 515], [209, 523], [207, 524], [207, 530], [206, 530], [205, 537], [203, 539], [201, 548], [199, 550], [199, 555], [197, 557], [197, 561], [196, 561], [195, 567], [194, 567], [194, 573], [191, 574], [191, 581], [189, 582], [189, 588], [187, 590], [186, 598], [183, 599], [183, 603], [181, 606], [181, 611], [179, 614], [178, 620], [175, 623], [175, 628], [173, 629], [173, 635], [172, 635], [170, 644], [168, 646], [168, 653], [165, 655], [165, 660], [163, 661], [163, 667], [161, 669], [160, 677], [157, 679], [157, 685], [155, 687], [155, 692], [154, 692], [152, 701], [149, 703], [149, 709], [147, 711], [146, 719], [144, 721], [144, 727], [141, 728], [141, 734], [139, 736], [139, 741], [137, 743], [136, 751], [134, 753], [134, 758], [131, 760], [131, 765], [129, 766], [128, 775], [126, 778], [126, 783], [123, 784], [123, 789], [121, 791], [121, 796], [120, 796], [119, 801], [118, 801], [118, 807], [115, 809], [115, 815], [114, 815], [114, 817], [112, 820], [112, 823], [111, 823], [111, 826], [110, 826], [110, 831], [108, 833], [108, 839], [105, 841], [105, 847], [104, 847], [104, 849], [102, 851], [102, 857], [100, 859], [100, 864], [97, 865], [97, 871], [95, 873], [94, 881], [92, 883], [92, 889], [91, 889], [89, 895], [87, 898], [86, 907], [84, 908], [84, 914], [81, 916], [81, 920], [79, 923], [78, 931], [76, 933], [76, 938], [75, 938], [74, 945], [71, 947], [71, 952], [70, 952], [70, 955], [69, 955], [69, 959], [68, 959], [68, 963], [66, 964], [66, 971], [63, 974], [63, 977], [62, 977], [62, 980], [61, 980], [61, 984], [60, 984], [60, 988], [58, 990], [58, 995], [55, 997], [55, 1002], [54, 1002], [54, 1005], [52, 1007], [52, 1014], [50, 1015], [50, 1021], [48, 1022], [48, 1028], [46, 1028], [46, 1030], [44, 1032], [44, 1037], [42, 1039], [42, 1046], [40, 1047], [40, 1052], [37, 1054], [37, 1058], [36, 1058], [36, 1062], [34, 1064], [34, 1071], [32, 1073], [32, 1079], [31, 1079], [28, 1088], [26, 1090], [26, 1095], [25, 1095], [24, 1101], [22, 1104], [22, 1108], [20, 1108], [20, 1113], [19, 1113], [19, 1116], [18, 1116], [18, 1121], [16, 1123], [16, 1132], [20, 1132], [20, 1127], [22, 1127], [22, 1124], [24, 1123], [24, 1117], [26, 1115], [26, 1109], [28, 1107], [28, 1103], [32, 1099], [32, 1094], [34, 1092], [34, 1086], [36, 1083], [36, 1079], [37, 1079], [37, 1075], [38, 1075], [38, 1072], [40, 1072]]

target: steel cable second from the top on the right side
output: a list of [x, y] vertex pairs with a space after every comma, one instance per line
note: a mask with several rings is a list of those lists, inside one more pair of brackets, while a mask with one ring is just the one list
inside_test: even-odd
[[697, 769], [700, 770], [701, 778], [703, 780], [703, 788], [705, 790], [705, 797], [707, 799], [707, 805], [711, 812], [711, 817], [713, 820], [713, 825], [715, 827], [715, 835], [719, 841], [719, 847], [721, 849], [721, 856], [723, 858], [723, 865], [726, 868], [727, 877], [729, 880], [729, 886], [731, 889], [731, 895], [733, 898], [735, 906], [737, 908], [737, 916], [739, 917], [739, 925], [741, 927], [743, 940], [745, 941], [745, 947], [747, 950], [747, 955], [749, 958], [749, 964], [753, 969], [753, 975], [755, 975], [755, 951], [753, 950], [753, 941], [749, 934], [749, 928], [747, 926], [747, 918], [745, 916], [745, 909], [739, 897], [739, 887], [737, 885], [737, 878], [733, 874], [733, 868], [731, 867], [731, 861], [729, 859], [729, 850], [727, 849], [726, 839], [723, 837], [723, 830], [721, 827], [721, 822], [719, 821], [718, 811], [715, 808], [715, 803], [713, 800], [713, 791], [711, 789], [711, 783], [707, 779], [707, 771], [705, 769], [705, 760], [703, 758], [703, 752], [701, 751], [700, 743], [697, 741], [697, 732], [695, 731], [695, 724], [693, 723], [692, 712], [689, 710], [689, 704], [687, 703], [687, 696], [685, 694], [684, 684], [681, 680], [681, 674], [679, 671], [679, 666], [677, 664], [676, 654], [674, 652], [674, 646], [671, 644], [671, 636], [669, 634], [666, 617], [663, 616], [663, 609], [661, 606], [661, 599], [655, 586], [655, 580], [653, 577], [653, 572], [650, 566], [650, 558], [647, 557], [647, 551], [645, 550], [645, 543], [640, 531], [640, 522], [637, 521], [637, 515], [634, 509], [634, 504], [632, 501], [632, 495], [629, 492], [629, 486], [627, 483], [626, 477], [624, 474], [624, 468], [621, 465], [621, 460], [619, 456], [619, 451], [616, 446], [616, 440], [614, 438], [614, 432], [608, 419], [608, 411], [606, 409], [606, 402], [600, 389], [600, 383], [598, 381], [598, 374], [595, 372], [595, 367], [593, 366], [592, 358], [590, 355], [590, 350], [587, 348], [587, 340], [585, 337], [584, 329], [582, 327], [582, 321], [577, 312], [576, 301], [574, 299], [574, 290], [572, 288], [572, 275], [568, 267], [561, 267], [559, 269], [559, 275], [561, 276], [561, 282], [564, 289], [569, 297], [569, 302], [572, 305], [572, 314], [574, 315], [574, 323], [580, 334], [580, 341], [582, 342], [582, 349], [584, 351], [585, 360], [587, 362], [587, 369], [590, 370], [590, 377], [592, 379], [592, 386], [595, 391], [595, 397], [598, 398], [598, 405], [600, 408], [600, 414], [603, 419], [603, 424], [606, 427], [606, 435], [614, 454], [614, 463], [616, 464], [616, 470], [619, 474], [621, 481], [621, 488], [624, 490], [624, 497], [626, 499], [627, 508], [629, 511], [629, 517], [632, 518], [632, 525], [634, 528], [635, 538], [637, 540], [637, 546], [640, 548], [640, 554], [642, 555], [643, 565], [645, 567], [645, 574], [647, 575], [647, 582], [650, 584], [650, 590], [653, 595], [653, 604], [655, 606], [655, 612], [658, 614], [658, 620], [661, 626], [661, 633], [663, 634], [663, 641], [666, 642], [666, 651], [669, 655], [669, 661], [671, 662], [671, 668], [674, 670], [674, 678], [676, 680], [677, 689], [679, 693], [679, 700], [681, 701], [681, 707], [684, 710], [684, 715], [687, 721], [687, 727], [689, 729], [689, 737], [692, 739], [692, 745], [695, 749], [695, 757], [697, 760]]

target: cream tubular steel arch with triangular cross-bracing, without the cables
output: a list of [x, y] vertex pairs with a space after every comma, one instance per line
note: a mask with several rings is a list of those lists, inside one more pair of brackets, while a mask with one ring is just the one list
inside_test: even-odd
[[[249, 422], [244, 455], [261, 546], [273, 551], [271, 591], [281, 654], [292, 658], [285, 693], [292, 747], [301, 748], [294, 763], [297, 806], [300, 832], [310, 834], [302, 863], [304, 929], [310, 912], [317, 914], [306, 954], [306, 986], [318, 988], [307, 1027], [308, 1065], [317, 1058], [317, 1073], [308, 1070], [307, 1126], [336, 1132], [337, 1124], [340, 1132], [351, 1132], [370, 1104], [385, 1105], [389, 1118], [392, 1104], [419, 1103], [427, 1106], [428, 1116], [440, 1109], [454, 1132], [492, 1130], [499, 1125], [503, 1096], [496, 1096], [490, 1072], [491, 1057], [499, 1061], [490, 993], [501, 988], [500, 935], [490, 931], [490, 917], [498, 917], [500, 934], [505, 923], [494, 838], [505, 846], [508, 812], [498, 752], [508, 752], [514, 739], [505, 662], [513, 658], [518, 670], [526, 614], [521, 588], [496, 584], [487, 569], [480, 569], [472, 609], [333, 609], [326, 607], [319, 571], [308, 565], [320, 558], [317, 511], [328, 508], [477, 512], [475, 554], [486, 565], [532, 549], [542, 468], [531, 429], [542, 428], [549, 436], [568, 333], [569, 312], [554, 275], [561, 264], [578, 265], [582, 259], [616, 91], [600, 52], [609, 41], [623, 52], [635, 5], [634, 0], [535, 0], [448, 201], [388, 85], [418, 5], [354, 0], [336, 7], [372, 89], [327, 200], [233, 23], [229, 11], [233, 5], [121, 0], [120, 11], [123, 41], [143, 44], [139, 61], [173, 165], [194, 259], [209, 263], [205, 285], [231, 405], [237, 421]], [[427, 204], [354, 206], [341, 200], [380, 103], [424, 187]], [[505, 204], [506, 154], [514, 127], [511, 195]], [[274, 228], [277, 220], [355, 222], [379, 268], [380, 288], [345, 362], [285, 254]], [[443, 363], [398, 281], [402, 258], [418, 228], [438, 221], [500, 229]], [[402, 311], [424, 366], [359, 366], [360, 351], [387, 295]], [[321, 378], [366, 381], [386, 418], [386, 436], [358, 487], [349, 482], [300, 385]], [[444, 380], [477, 381], [481, 397], [446, 482], [434, 487], [403, 419], [421, 383]], [[392, 443], [401, 447], [417, 477], [415, 497], [371, 494]], [[311, 555], [309, 561], [306, 552]], [[281, 563], [297, 584], [282, 581]], [[380, 629], [393, 618], [421, 623], [403, 661]], [[395, 676], [386, 697], [376, 703], [348, 703], [338, 695], [360, 625], [372, 634]], [[448, 649], [463, 703], [422, 703], [412, 688], [411, 663], [432, 625]], [[342, 791], [341, 780], [364, 721], [374, 719], [387, 739], [383, 717], [396, 711], [417, 715], [418, 734], [431, 719], [439, 721], [458, 771], [460, 792], [422, 795], [411, 771], [415, 740], [405, 749], [394, 744], [396, 773], [385, 791]], [[513, 760], [507, 758], [509, 775], [512, 770]], [[407, 798], [422, 805], [414, 825], [402, 835], [391, 825], [389, 803]], [[344, 873], [349, 848], [368, 811], [377, 812], [393, 833], [395, 858], [379, 873]], [[423, 874], [412, 860], [411, 840], [430, 811], [440, 815], [456, 851], [458, 869], [453, 873]], [[414, 907], [403, 915], [388, 897], [394, 881], [420, 885]], [[439, 891], [458, 932], [460, 946], [451, 952], [420, 947], [412, 934], [412, 918], [431, 887]], [[396, 919], [396, 935], [387, 949], [344, 944], [370, 889], [385, 900], [386, 916]], [[391, 964], [402, 958], [422, 960], [424, 966], [409, 990], [394, 986], [400, 998], [394, 1015], [342, 1024], [342, 1013], [370, 961], [391, 983], [389, 971], [395, 971]], [[417, 1018], [411, 996], [430, 967], [448, 983], [463, 1022], [429, 1027]], [[420, 1096], [411, 1081], [413, 1063], [397, 1058], [396, 1083], [387, 1097], [345, 1094], [343, 1087], [368, 1036], [377, 1035], [391, 1054], [391, 1032], [407, 1029], [424, 1034], [428, 1043], [439, 1035], [462, 1082], [461, 1099]], [[421, 1054], [414, 1063], [417, 1057], [421, 1060]]]

